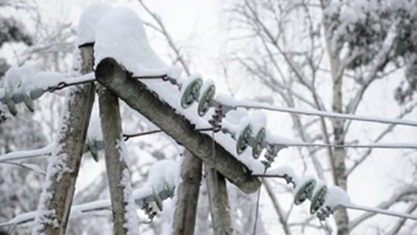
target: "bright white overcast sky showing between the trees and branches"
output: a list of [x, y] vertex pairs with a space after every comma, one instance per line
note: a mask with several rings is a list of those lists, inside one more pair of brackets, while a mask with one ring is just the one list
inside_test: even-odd
[[[92, 2], [97, 1], [37, 1], [43, 20], [50, 22], [51, 25], [54, 25], [56, 22], [72, 22], [73, 25], [77, 25], [81, 10]], [[139, 12], [139, 16], [142, 19], [149, 20], [148, 15], [141, 10], [139, 4], [135, 1], [118, 2], [122, 3], [122, 5], [129, 5]], [[269, 90], [259, 85], [258, 82], [243, 79], [245, 74], [235, 67], [229, 68], [227, 71], [228, 83], [226, 83], [221, 64], [224, 63], [225, 53], [230, 49], [226, 42], [226, 38], [230, 36], [230, 31], [227, 30], [227, 16], [224, 12], [226, 3], [224, 1], [148, 0], [146, 3], [148, 3], [152, 11], [161, 16], [174, 41], [181, 46], [185, 46], [185, 55], [191, 59], [192, 72], [200, 72], [204, 78], [215, 80], [216, 87], [221, 92], [228, 92], [228, 85], [230, 85], [231, 91], [236, 93], [238, 98], [251, 98], [259, 94], [269, 94]], [[161, 38], [157, 38], [158, 36], [150, 29], [147, 29], [147, 33], [150, 36], [150, 42], [154, 46], [154, 50], [159, 55], [165, 56], [167, 49], [165, 42]], [[8, 49], [5, 50], [8, 51]], [[169, 61], [167, 57], [164, 57], [164, 59], [167, 62]], [[375, 82], [371, 92], [366, 93], [364, 105], [360, 107], [358, 114], [394, 118], [394, 115], [398, 113], [398, 106], [392, 98], [392, 92], [398, 84], [399, 77], [402, 76], [403, 73], [400, 72], [394, 74], [388, 80]], [[325, 101], [329, 103], [328, 100]], [[387, 107], [390, 107], [390, 109], [387, 109]], [[413, 115], [409, 115], [408, 119], [417, 120], [416, 112]], [[352, 126], [353, 128], [350, 131], [355, 133], [355, 135], [364, 136], [362, 139], [366, 141], [366, 136], [372, 137], [379, 133], [379, 131], [373, 133], [371, 126], [375, 126], [375, 130], [378, 130], [380, 124], [358, 124]], [[276, 135], [294, 137], [290, 118], [286, 114], [269, 113], [268, 128], [269, 130], [274, 130]], [[384, 139], [384, 142], [416, 142], [416, 133], [416, 128], [397, 127], [394, 134]], [[371, 139], [368, 140], [371, 141]], [[283, 150], [275, 166], [288, 164], [301, 173], [301, 167], [299, 167], [301, 161], [294, 154], [298, 154], [298, 152]], [[415, 166], [408, 164], [409, 161], [400, 158], [400, 156], [401, 154], [397, 150], [375, 150], [373, 155], [362, 163], [355, 171], [355, 174], [349, 178], [349, 196], [352, 201], [366, 206], [375, 206], [382, 199], [390, 197], [393, 186], [396, 186], [396, 180], [412, 182], [412, 178], [404, 178], [404, 176], [411, 176]], [[416, 159], [416, 152], [412, 152], [410, 156]], [[91, 175], [86, 174], [86, 172], [91, 172], [88, 169], [91, 169], [90, 167], [97, 169], [96, 165], [90, 165], [90, 162], [87, 163], [88, 165], [83, 165], [81, 169], [80, 178], [77, 180], [80, 188], [89, 179], [92, 179]], [[101, 163], [103, 164], [103, 161]], [[269, 199], [265, 192], [263, 192], [262, 198], [260, 211], [264, 212], [263, 219], [267, 222], [267, 227], [272, 232], [279, 228], [278, 220], [275, 217], [275, 212], [267, 212], [271, 210], [269, 209]], [[284, 208], [289, 208], [289, 203], [284, 205]], [[293, 216], [297, 215], [297, 212], [308, 212], [308, 208], [304, 205], [295, 208], [295, 211]], [[351, 215], [354, 216], [359, 214], [358, 212], [351, 212]], [[387, 219], [388, 217], [378, 216], [376, 218]], [[364, 230], [356, 229], [353, 234], [361, 234], [362, 232]]]

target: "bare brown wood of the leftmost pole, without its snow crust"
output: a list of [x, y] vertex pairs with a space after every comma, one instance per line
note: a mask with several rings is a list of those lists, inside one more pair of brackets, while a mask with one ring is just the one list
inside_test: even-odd
[[[81, 74], [87, 74], [93, 70], [93, 47], [84, 46], [81, 50]], [[65, 127], [59, 130], [58, 146], [62, 148], [57, 152], [59, 156], [66, 156], [65, 165], [70, 171], [50, 177], [52, 198], [46, 202], [47, 210], [55, 210], [55, 218], [58, 226], [44, 223], [44, 234], [65, 234], [68, 217], [72, 205], [72, 197], [75, 192], [83, 145], [87, 135], [88, 124], [92, 105], [94, 102], [94, 83], [78, 85], [70, 89], [67, 101], [68, 120], [64, 120]]]

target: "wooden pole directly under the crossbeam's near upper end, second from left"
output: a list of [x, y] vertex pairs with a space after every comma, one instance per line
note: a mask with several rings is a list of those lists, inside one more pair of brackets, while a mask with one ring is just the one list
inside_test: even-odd
[[[98, 85], [101, 129], [105, 143], [105, 161], [113, 215], [113, 233], [128, 234], [130, 172], [123, 156], [122, 119], [119, 98], [102, 85]], [[128, 185], [129, 184], [129, 185]], [[132, 215], [133, 217], [137, 215]], [[130, 218], [134, 219], [135, 218]]]

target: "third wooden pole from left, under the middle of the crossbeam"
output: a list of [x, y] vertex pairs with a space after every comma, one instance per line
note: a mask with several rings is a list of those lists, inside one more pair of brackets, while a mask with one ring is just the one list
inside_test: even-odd
[[177, 189], [172, 234], [193, 235], [196, 225], [198, 194], [200, 193], [202, 161], [188, 150], [184, 151], [180, 177], [183, 180]]

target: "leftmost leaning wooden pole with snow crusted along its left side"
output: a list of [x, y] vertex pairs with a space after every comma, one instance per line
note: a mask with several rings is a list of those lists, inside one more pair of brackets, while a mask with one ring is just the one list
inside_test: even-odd
[[[80, 50], [81, 74], [92, 72], [92, 46], [81, 47]], [[33, 234], [65, 234], [93, 102], [93, 83], [70, 88], [57, 147], [49, 161]]]

